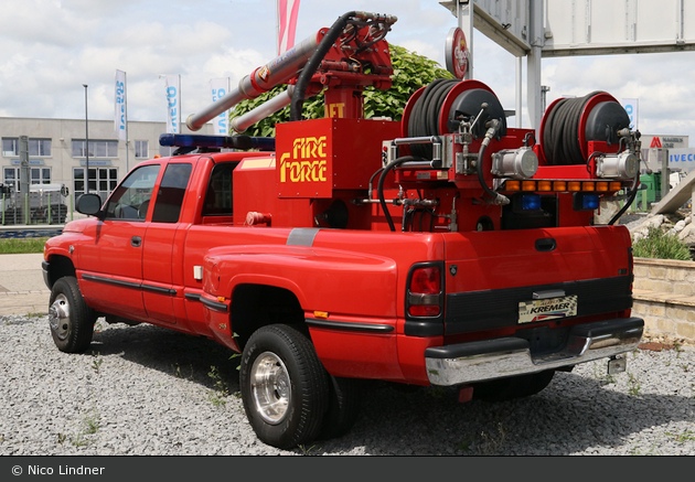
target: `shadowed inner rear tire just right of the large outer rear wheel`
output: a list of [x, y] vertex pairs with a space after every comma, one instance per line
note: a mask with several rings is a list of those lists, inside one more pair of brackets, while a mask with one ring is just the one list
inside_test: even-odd
[[360, 416], [361, 387], [359, 379], [329, 375], [329, 409], [321, 427], [322, 440], [342, 437]]

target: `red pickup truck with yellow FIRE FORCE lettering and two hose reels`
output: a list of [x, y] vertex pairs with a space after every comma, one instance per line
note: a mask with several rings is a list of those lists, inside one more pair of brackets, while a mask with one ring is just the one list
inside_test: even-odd
[[[341, 32], [343, 46], [363, 38]], [[430, 84], [400, 121], [163, 136], [175, 156], [141, 162], [104, 203], [79, 197], [89, 217], [46, 243], [53, 339], [84, 351], [106, 317], [216, 340], [242, 353], [248, 419], [280, 448], [349, 430], [360, 379], [495, 400], [578, 363], [624, 371], [644, 324], [630, 236], [594, 212], [635, 191], [639, 137], [605, 93], [565, 100], [584, 103], [579, 161], [556, 152], [552, 119], [537, 143], [507, 129], [475, 81]], [[224, 151], [240, 147], [256, 150]]]

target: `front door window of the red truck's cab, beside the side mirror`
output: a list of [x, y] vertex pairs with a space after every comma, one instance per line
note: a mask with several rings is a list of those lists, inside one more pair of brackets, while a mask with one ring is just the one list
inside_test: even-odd
[[105, 218], [145, 221], [159, 169], [159, 164], [143, 165], [128, 174], [109, 197]]

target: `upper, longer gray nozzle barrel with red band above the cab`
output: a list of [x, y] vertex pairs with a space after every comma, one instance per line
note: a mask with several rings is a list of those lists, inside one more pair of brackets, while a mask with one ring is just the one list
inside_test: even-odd
[[[237, 88], [216, 103], [209, 105], [197, 114], [192, 114], [185, 121], [192, 131], [200, 130], [205, 122], [229, 110], [244, 99], [253, 99], [297, 75], [319, 45], [319, 33], [304, 39], [300, 44], [285, 52], [239, 82]], [[259, 119], [258, 119], [259, 120]], [[253, 122], [252, 122], [253, 124]]]

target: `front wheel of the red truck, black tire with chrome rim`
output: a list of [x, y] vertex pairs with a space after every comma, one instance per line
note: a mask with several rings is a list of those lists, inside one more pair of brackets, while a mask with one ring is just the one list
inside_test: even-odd
[[61, 352], [82, 353], [87, 350], [96, 319], [95, 311], [82, 297], [75, 277], [66, 276], [53, 285], [49, 324], [55, 346]]

